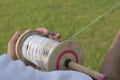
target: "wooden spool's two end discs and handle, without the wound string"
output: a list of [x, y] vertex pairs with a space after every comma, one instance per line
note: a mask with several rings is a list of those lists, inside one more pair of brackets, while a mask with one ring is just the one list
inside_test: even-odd
[[[26, 64], [31, 64], [31, 61], [24, 58], [24, 56], [21, 54], [21, 48], [27, 37], [33, 34], [41, 35], [37, 31], [27, 31], [19, 37], [16, 43], [16, 55]], [[83, 51], [76, 43], [72, 41], [61, 42], [60, 45], [53, 50], [53, 52], [49, 54], [43, 54], [42, 60], [44, 61], [44, 63], [42, 63], [44, 67], [42, 67], [42, 69], [47, 71], [74, 69], [86, 73], [97, 80], [106, 79], [105, 75], [82, 66]]]

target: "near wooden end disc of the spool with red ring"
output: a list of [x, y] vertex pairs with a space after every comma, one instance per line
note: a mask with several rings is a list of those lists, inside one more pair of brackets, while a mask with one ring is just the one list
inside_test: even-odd
[[[50, 70], [59, 70], [59, 69], [62, 69], [60, 66], [58, 66], [60, 63], [61, 63], [61, 60], [62, 60], [62, 58], [63, 57], [65, 57], [66, 55], [70, 55], [70, 58], [71, 58], [71, 56], [72, 57], [74, 57], [74, 61], [76, 62], [76, 63], [79, 63], [79, 64], [83, 64], [83, 62], [84, 62], [84, 58], [83, 58], [83, 51], [81, 50], [81, 48], [80, 47], [78, 47], [77, 45], [77, 49], [79, 48], [79, 50], [78, 51], [80, 51], [79, 53], [80, 54], [77, 54], [76, 53], [76, 51], [74, 51], [74, 49], [65, 49], [64, 50], [64, 46], [66, 46], [66, 45], [68, 45], [69, 43], [72, 43], [73, 45], [76, 45], [76, 44], [74, 44], [74, 42], [73, 41], [65, 41], [65, 42], [61, 42], [61, 44], [60, 45], [58, 45], [58, 47], [56, 47], [55, 49], [54, 49], [54, 51], [53, 51], [53, 53], [52, 53], [52, 55], [49, 55], [49, 58], [48, 58], [48, 67], [47, 67], [47, 70], [48, 71], [50, 71]], [[71, 44], [71, 45], [72, 45]], [[62, 47], [63, 49], [60, 49], [60, 47]], [[71, 46], [71, 48], [72, 48], [72, 46]], [[59, 50], [60, 49], [60, 50]], [[77, 52], [78, 52], [77, 51]], [[58, 54], [57, 55], [57, 53], [59, 53], [60, 52], [60, 54]], [[53, 55], [55, 55], [55, 56], [53, 56]], [[55, 60], [53, 60], [53, 58], [56, 58]], [[59, 59], [60, 58], [60, 59]], [[68, 59], [69, 59], [69, 57], [68, 57]], [[66, 59], [65, 59], [66, 60]], [[51, 65], [51, 64], [53, 64], [53, 65]], [[63, 63], [64, 64], [64, 63]], [[61, 64], [60, 64], [61, 65]], [[51, 67], [51, 66], [53, 66], [53, 67]], [[65, 67], [64, 67], [65, 68]]]

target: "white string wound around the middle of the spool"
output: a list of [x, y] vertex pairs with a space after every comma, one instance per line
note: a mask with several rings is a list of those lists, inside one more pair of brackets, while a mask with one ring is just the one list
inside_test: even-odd
[[40, 35], [31, 35], [22, 44], [22, 55], [36, 66], [45, 68], [48, 64], [46, 59], [59, 44], [58, 41]]

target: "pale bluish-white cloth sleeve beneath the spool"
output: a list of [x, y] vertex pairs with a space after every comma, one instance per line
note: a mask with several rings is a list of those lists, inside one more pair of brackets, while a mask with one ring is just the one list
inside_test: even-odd
[[0, 56], [0, 80], [92, 80], [88, 75], [77, 71], [42, 72], [26, 67], [20, 60], [12, 61], [4, 54]]

